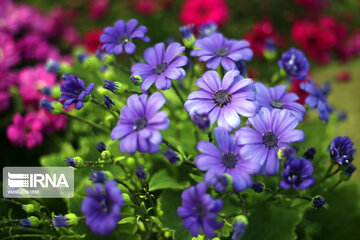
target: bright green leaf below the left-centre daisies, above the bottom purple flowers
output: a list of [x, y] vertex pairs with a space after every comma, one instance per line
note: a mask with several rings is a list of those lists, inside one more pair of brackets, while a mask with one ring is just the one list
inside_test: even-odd
[[189, 186], [189, 182], [180, 182], [170, 176], [167, 170], [163, 169], [157, 173], [151, 178], [149, 183], [149, 190], [159, 190], [159, 189], [184, 189]]

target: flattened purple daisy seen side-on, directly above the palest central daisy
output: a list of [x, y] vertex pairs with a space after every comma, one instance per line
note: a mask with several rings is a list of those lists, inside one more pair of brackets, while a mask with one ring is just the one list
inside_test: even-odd
[[192, 57], [199, 57], [200, 62], [206, 62], [209, 69], [217, 69], [221, 63], [226, 71], [236, 69], [235, 62], [250, 61], [253, 51], [250, 43], [245, 40], [228, 40], [220, 33], [198, 39], [194, 46], [199, 48], [191, 51]]

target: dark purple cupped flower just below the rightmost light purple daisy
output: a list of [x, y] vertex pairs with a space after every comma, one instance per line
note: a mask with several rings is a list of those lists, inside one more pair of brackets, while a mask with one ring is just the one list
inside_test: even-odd
[[315, 183], [312, 177], [314, 168], [305, 158], [291, 158], [284, 163], [284, 172], [281, 173], [280, 187], [289, 189], [308, 189]]

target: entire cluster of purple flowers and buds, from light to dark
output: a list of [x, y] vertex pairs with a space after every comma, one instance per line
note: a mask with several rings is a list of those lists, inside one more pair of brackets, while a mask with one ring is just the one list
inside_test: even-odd
[[[296, 127], [303, 121], [306, 110], [297, 102], [299, 97], [296, 94], [286, 91], [285, 85], [267, 87], [246, 76], [244, 62], [253, 57], [248, 41], [228, 39], [216, 32], [213, 24], [202, 26], [199, 29], [202, 34], [198, 34], [197, 38], [193, 30], [193, 26], [180, 29], [184, 44], [189, 48], [194, 46], [190, 56], [205, 62], [208, 71], [196, 80], [199, 89], [188, 95], [184, 108], [200, 129], [209, 129], [217, 124], [213, 130], [217, 145], [211, 139], [197, 143], [200, 154], [195, 157], [194, 164], [198, 170], [205, 172], [204, 182], [183, 192], [178, 215], [193, 236], [198, 236], [202, 230], [207, 237], [213, 238], [216, 236], [214, 230], [223, 226], [222, 222], [217, 221], [223, 202], [206, 193], [210, 186], [214, 186], [218, 192], [225, 192], [230, 186], [235, 192], [250, 187], [261, 192], [263, 184], [254, 184], [252, 175], [277, 175], [281, 161], [286, 160], [280, 187], [308, 189], [315, 183], [311, 162], [315, 149], [308, 149], [304, 157], [296, 157], [296, 150], [289, 144], [304, 141], [304, 133]], [[107, 54], [120, 55], [125, 52], [131, 55], [136, 51], [134, 40], [150, 41], [146, 33], [147, 28], [138, 26], [135, 19], [128, 22], [119, 20], [113, 27], [104, 29], [100, 37], [102, 50]], [[170, 126], [168, 114], [160, 111], [166, 98], [160, 92], [151, 94], [150, 88], [153, 85], [163, 91], [173, 88], [182, 99], [177, 84], [172, 80], [182, 81], [187, 74], [184, 68], [189, 59], [184, 54], [185, 49], [177, 42], [167, 47], [164, 43], [157, 43], [144, 51], [144, 62], [132, 65], [130, 80], [141, 85], [143, 94], [133, 94], [127, 98], [126, 105], [120, 111], [120, 119], [112, 129], [111, 139], [120, 139], [121, 152], [154, 154], [160, 151], [161, 143], [167, 142], [160, 133]], [[308, 77], [310, 66], [305, 55], [291, 48], [281, 56], [278, 65], [285, 75], [294, 78], [293, 81], [306, 80], [299, 84], [308, 94], [306, 104], [318, 109], [320, 119], [327, 121], [330, 107], [323, 91]], [[69, 74], [64, 76], [64, 80], [59, 101], [66, 109], [72, 105], [75, 109], [81, 109], [95, 84], [90, 83], [86, 87], [82, 79]], [[103, 85], [116, 94], [119, 93], [119, 86], [120, 83], [109, 80]], [[109, 97], [105, 97], [104, 101], [109, 109], [114, 105]], [[42, 103], [42, 108], [50, 111], [55, 109], [55, 102]], [[245, 123], [241, 124], [241, 119], [245, 118]], [[169, 150], [164, 155], [171, 163], [178, 162], [178, 150], [167, 144]], [[102, 142], [97, 149], [102, 154], [106, 152]], [[347, 137], [337, 137], [330, 145], [331, 158], [339, 166], [345, 167], [344, 171], [349, 176], [355, 170], [352, 165], [355, 151]], [[67, 158], [66, 162], [72, 167], [83, 164], [80, 158]], [[146, 178], [142, 167], [137, 168], [136, 175], [139, 179]], [[88, 196], [81, 207], [86, 224], [94, 233], [101, 235], [109, 234], [116, 228], [124, 204], [116, 181], [107, 176], [105, 172], [91, 172], [90, 179], [96, 185], [94, 189], [88, 187]], [[322, 197], [315, 197], [312, 203], [319, 208], [325, 201]], [[69, 226], [66, 223], [70, 218], [63, 220], [65, 223], [61, 226]], [[233, 236], [241, 235], [244, 228], [244, 221], [236, 220]]]

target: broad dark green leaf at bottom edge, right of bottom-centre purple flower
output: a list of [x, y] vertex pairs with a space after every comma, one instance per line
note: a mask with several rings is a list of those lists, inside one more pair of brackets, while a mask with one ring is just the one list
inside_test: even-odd
[[303, 213], [297, 209], [281, 206], [261, 206], [256, 208], [249, 217], [242, 240], [292, 240], [296, 239], [295, 228]]

